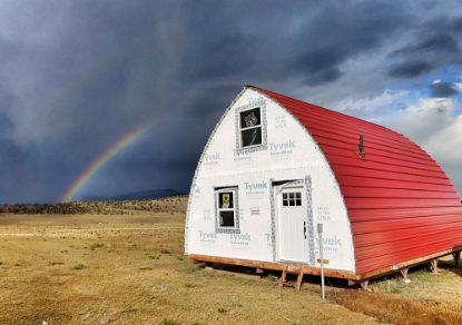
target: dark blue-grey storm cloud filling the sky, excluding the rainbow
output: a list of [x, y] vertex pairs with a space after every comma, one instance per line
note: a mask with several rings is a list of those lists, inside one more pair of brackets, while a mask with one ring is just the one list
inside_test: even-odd
[[[415, 29], [413, 10], [382, 1], [7, 1], [0, 201], [58, 199], [96, 157], [145, 124], [153, 125], [146, 136], [81, 196], [186, 190], [208, 135], [245, 83], [327, 87], [348, 60]], [[425, 38], [393, 58], [458, 53], [461, 23], [445, 23], [448, 37]], [[422, 61], [397, 75], [433, 68]]]

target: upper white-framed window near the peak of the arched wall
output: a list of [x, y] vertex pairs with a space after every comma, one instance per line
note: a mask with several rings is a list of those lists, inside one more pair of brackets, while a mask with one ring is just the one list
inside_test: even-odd
[[240, 147], [262, 145], [262, 109], [259, 107], [239, 112]]

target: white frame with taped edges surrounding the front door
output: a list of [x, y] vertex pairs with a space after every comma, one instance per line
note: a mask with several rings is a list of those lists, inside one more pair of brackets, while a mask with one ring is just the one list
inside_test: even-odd
[[[278, 219], [278, 190], [276, 187], [282, 190], [285, 186], [302, 184], [305, 188], [305, 208], [306, 208], [306, 235], [307, 235], [307, 245], [308, 245], [308, 256], [306, 258], [306, 264], [309, 266], [315, 266], [315, 243], [314, 243], [314, 219], [313, 219], [313, 198], [312, 198], [312, 178], [311, 176], [305, 176], [304, 178], [292, 178], [292, 179], [281, 179], [275, 180], [274, 178], [269, 179], [271, 184], [271, 215], [272, 215], [272, 244], [273, 244], [273, 262], [285, 262], [281, 260], [279, 252], [279, 219]], [[299, 262], [296, 262], [299, 263]]]

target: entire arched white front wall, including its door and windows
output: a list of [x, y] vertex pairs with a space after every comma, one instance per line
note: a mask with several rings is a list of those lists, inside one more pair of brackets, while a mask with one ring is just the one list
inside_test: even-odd
[[317, 223], [326, 267], [355, 273], [346, 207], [323, 152], [285, 107], [246, 87], [198, 162], [186, 254], [318, 267]]

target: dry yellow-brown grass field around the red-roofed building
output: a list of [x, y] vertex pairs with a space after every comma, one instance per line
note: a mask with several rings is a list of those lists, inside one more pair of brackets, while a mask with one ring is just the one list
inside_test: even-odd
[[155, 211], [0, 215], [0, 324], [462, 324], [462, 269], [373, 282], [372, 293], [318, 278], [299, 293], [183, 255], [185, 198]]

